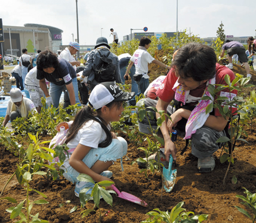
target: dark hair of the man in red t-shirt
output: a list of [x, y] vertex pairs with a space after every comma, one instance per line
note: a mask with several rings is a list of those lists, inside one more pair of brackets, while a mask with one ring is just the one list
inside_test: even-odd
[[171, 66], [181, 78], [192, 78], [199, 82], [215, 76], [216, 62], [213, 48], [191, 42], [179, 49]]

